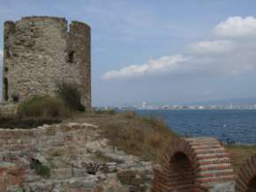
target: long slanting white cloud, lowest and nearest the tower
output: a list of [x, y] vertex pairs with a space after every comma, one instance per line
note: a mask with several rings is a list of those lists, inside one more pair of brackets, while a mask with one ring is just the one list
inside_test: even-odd
[[130, 65], [121, 70], [110, 70], [106, 72], [102, 78], [134, 78], [175, 71], [180, 68], [181, 63], [187, 60], [188, 58], [184, 58], [183, 55], [162, 56], [158, 59], [149, 60], [146, 64]]

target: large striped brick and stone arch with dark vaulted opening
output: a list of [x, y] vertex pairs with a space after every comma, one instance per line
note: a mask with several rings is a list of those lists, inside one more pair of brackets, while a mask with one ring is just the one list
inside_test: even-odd
[[219, 141], [194, 137], [173, 141], [161, 166], [154, 167], [153, 192], [203, 192], [233, 182], [230, 158]]

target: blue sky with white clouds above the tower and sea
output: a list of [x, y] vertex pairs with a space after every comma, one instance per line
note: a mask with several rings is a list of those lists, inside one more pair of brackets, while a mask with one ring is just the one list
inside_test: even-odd
[[[256, 0], [0, 0], [5, 20], [92, 28], [94, 106], [256, 97]], [[1, 63], [1, 62], [0, 62]]]

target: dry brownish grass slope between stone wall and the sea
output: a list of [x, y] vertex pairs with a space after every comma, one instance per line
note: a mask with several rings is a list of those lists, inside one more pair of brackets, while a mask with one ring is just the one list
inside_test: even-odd
[[[80, 120], [79, 120], [80, 119]], [[76, 121], [87, 121], [103, 130], [113, 150], [119, 149], [144, 160], [158, 161], [176, 133], [160, 119], [141, 117], [133, 112], [83, 114]]]

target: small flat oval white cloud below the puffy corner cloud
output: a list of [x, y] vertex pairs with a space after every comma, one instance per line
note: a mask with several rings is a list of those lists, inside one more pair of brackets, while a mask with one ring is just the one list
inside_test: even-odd
[[200, 41], [189, 46], [193, 54], [223, 54], [234, 49], [232, 41]]

